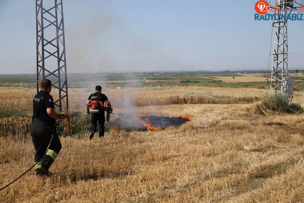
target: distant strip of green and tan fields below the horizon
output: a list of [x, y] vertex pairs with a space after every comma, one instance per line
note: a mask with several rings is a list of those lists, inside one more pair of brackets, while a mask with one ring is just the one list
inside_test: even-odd
[[[295, 91], [304, 90], [304, 75], [292, 73]], [[233, 77], [235, 77], [233, 79]], [[269, 89], [266, 74], [68, 74], [69, 88], [124, 87], [232, 87]], [[56, 78], [50, 78], [56, 81]], [[36, 87], [36, 75], [0, 75], [0, 87]]]

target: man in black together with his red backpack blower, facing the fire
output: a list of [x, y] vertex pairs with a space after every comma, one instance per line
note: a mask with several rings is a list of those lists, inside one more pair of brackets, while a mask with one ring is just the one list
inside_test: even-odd
[[[95, 93], [91, 94], [86, 103], [87, 114], [91, 114], [92, 130], [90, 140], [96, 132], [97, 122], [99, 124], [99, 137], [105, 135], [105, 111], [107, 112], [107, 121], [109, 121], [110, 113], [112, 113], [112, 105], [105, 94], [101, 93], [101, 86], [95, 87]], [[105, 103], [108, 107], [105, 107]]]

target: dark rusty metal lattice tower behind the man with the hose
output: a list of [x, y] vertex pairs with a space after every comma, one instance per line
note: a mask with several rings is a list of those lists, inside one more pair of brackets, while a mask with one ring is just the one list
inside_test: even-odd
[[68, 109], [62, 0], [35, 0], [35, 2], [37, 93], [40, 85], [39, 78], [42, 73], [42, 79], [50, 79], [52, 81], [52, 89], [58, 89], [59, 96], [54, 101], [54, 104], [62, 110], [65, 100], [66, 108]]

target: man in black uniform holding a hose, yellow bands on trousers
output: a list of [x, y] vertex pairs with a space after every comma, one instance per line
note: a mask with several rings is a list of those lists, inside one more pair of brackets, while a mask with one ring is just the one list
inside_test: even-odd
[[[52, 83], [43, 79], [40, 83], [40, 92], [33, 99], [33, 117], [30, 134], [36, 150], [35, 170], [37, 176], [49, 176], [49, 168], [61, 149], [61, 143], [56, 132], [59, 117], [54, 111], [53, 97], [50, 95]], [[51, 137], [53, 135], [52, 142]], [[49, 149], [47, 150], [48, 145]], [[46, 156], [43, 158], [47, 150]], [[41, 161], [39, 161], [43, 158]], [[38, 162], [39, 161], [39, 162]]]

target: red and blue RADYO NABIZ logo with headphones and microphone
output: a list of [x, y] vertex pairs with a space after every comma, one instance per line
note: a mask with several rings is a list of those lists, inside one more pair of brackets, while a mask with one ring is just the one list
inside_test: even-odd
[[280, 8], [278, 2], [274, 7], [265, 0], [259, 0], [254, 5], [254, 9], [257, 12], [254, 14], [254, 20], [304, 20], [303, 4], [301, 8]]

